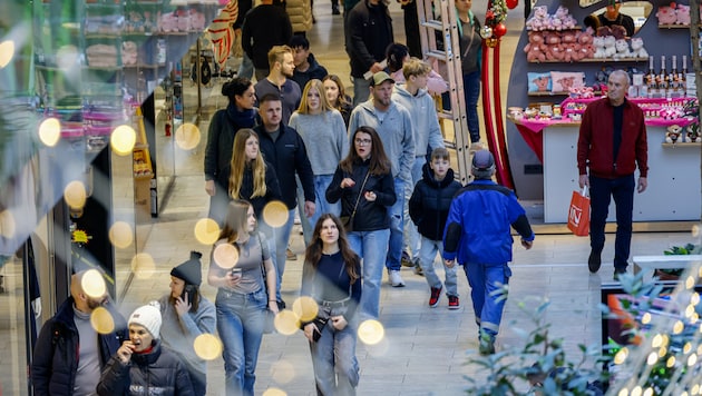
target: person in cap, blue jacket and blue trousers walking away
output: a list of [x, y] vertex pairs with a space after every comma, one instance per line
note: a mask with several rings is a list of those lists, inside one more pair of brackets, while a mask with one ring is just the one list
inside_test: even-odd
[[534, 232], [514, 191], [491, 180], [495, 158], [488, 150], [472, 158], [475, 181], [458, 191], [446, 222], [443, 260], [452, 267], [457, 260], [468, 277], [481, 355], [495, 353], [495, 337], [505, 308], [506, 295], [499, 293], [509, 283], [511, 270], [510, 226], [521, 236], [521, 246], [532, 248]]

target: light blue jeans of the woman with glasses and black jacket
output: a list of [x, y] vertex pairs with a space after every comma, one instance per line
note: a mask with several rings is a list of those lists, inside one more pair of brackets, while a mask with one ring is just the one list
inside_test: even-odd
[[389, 229], [377, 231], [351, 231], [349, 245], [363, 259], [363, 293], [361, 294], [361, 318], [378, 319], [380, 316], [380, 281], [383, 261], [388, 251]]

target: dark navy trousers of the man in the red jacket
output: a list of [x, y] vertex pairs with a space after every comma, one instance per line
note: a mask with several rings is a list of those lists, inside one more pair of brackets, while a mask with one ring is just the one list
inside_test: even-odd
[[632, 244], [634, 211], [634, 175], [617, 179], [589, 177], [589, 246], [601, 254], [605, 242], [605, 225], [610, 211], [610, 197], [616, 208], [616, 238], [614, 240], [614, 268], [626, 269]]

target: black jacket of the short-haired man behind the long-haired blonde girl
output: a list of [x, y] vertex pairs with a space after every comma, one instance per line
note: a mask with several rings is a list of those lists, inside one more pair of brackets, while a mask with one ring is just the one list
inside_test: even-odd
[[298, 206], [295, 174], [302, 182], [305, 201], [314, 202], [314, 175], [300, 133], [281, 123], [277, 140], [273, 141], [271, 133], [263, 126], [259, 126], [254, 130], [259, 133], [263, 158], [275, 168], [282, 201], [287, 206], [287, 209], [292, 210]]

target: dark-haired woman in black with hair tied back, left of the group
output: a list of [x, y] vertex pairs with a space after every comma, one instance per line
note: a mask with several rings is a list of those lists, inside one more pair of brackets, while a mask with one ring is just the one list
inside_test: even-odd
[[205, 146], [205, 191], [211, 197], [207, 216], [217, 221], [220, 227], [230, 201], [227, 191], [234, 137], [241, 128], [253, 128], [260, 123], [251, 80], [234, 78], [222, 86], [222, 95], [230, 99], [230, 103], [212, 117]]

